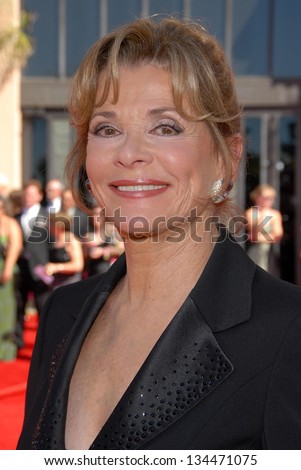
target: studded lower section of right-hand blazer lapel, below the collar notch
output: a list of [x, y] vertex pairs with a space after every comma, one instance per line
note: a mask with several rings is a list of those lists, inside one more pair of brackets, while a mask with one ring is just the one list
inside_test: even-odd
[[200, 403], [233, 371], [188, 297], [91, 449], [138, 449]]

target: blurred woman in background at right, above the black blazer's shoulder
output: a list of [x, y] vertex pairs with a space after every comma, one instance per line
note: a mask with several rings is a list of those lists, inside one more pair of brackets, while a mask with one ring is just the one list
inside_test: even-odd
[[277, 193], [269, 184], [250, 193], [253, 206], [246, 210], [248, 255], [261, 268], [279, 275], [279, 242], [283, 237], [282, 216], [273, 208]]

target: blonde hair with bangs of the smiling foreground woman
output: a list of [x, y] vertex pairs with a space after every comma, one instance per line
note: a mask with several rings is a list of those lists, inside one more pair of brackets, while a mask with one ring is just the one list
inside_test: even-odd
[[[69, 100], [71, 123], [77, 139], [65, 168], [76, 203], [87, 206], [82, 191], [85, 178], [89, 121], [95, 106], [99, 75], [105, 71], [101, 106], [110, 88], [118, 100], [121, 66], [153, 64], [170, 72], [175, 106], [186, 119], [204, 120], [215, 148], [223, 155], [225, 186], [231, 178], [232, 159], [229, 137], [240, 132], [241, 109], [234, 78], [218, 41], [201, 25], [165, 18], [138, 19], [99, 39], [87, 52], [73, 81]], [[188, 102], [191, 115], [184, 110]]]

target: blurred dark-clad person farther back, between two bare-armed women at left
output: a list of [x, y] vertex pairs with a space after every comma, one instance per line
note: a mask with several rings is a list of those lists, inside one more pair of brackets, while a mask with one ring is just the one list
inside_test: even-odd
[[72, 191], [68, 188], [62, 194], [62, 212], [71, 218], [71, 232], [81, 239], [90, 229], [89, 216], [77, 207]]

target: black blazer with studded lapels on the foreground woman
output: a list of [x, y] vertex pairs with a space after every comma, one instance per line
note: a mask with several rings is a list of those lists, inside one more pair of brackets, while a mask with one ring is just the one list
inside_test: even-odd
[[[63, 287], [49, 300], [18, 449], [64, 449], [75, 361], [125, 272], [122, 255], [102, 277]], [[301, 449], [300, 310], [299, 287], [221, 238], [90, 448]]]

